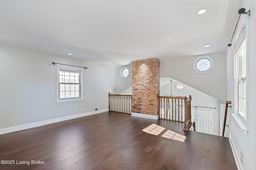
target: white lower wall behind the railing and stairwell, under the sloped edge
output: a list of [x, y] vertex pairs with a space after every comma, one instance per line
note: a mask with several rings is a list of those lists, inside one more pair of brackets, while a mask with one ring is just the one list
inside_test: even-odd
[[183, 90], [177, 90], [176, 84], [178, 82], [172, 81], [171, 83], [168, 82], [166, 85], [160, 88], [160, 96], [170, 96], [171, 94], [171, 87], [172, 87], [172, 95], [173, 96], [192, 96], [191, 105], [192, 106], [201, 106], [201, 107], [211, 107], [216, 108], [213, 109], [213, 135], [220, 136], [220, 104], [218, 104], [217, 99], [209, 96], [203, 92], [200, 92], [190, 86], [184, 84]]

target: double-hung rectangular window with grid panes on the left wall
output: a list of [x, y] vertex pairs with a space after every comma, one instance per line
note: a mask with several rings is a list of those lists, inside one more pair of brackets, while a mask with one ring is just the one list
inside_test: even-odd
[[57, 102], [83, 100], [82, 69], [57, 66]]

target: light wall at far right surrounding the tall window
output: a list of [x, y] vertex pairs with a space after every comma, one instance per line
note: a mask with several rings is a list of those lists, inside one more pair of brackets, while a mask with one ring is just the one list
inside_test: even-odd
[[[244, 153], [244, 170], [256, 169], [256, 109], [255, 109], [255, 96], [256, 96], [256, 2], [255, 0], [243, 0], [240, 8], [246, 8], [246, 12], [250, 9], [251, 16], [248, 20], [248, 72], [246, 76], [246, 82], [248, 84], [246, 90], [247, 101], [247, 124], [249, 133], [246, 135], [236, 123], [234, 117], [230, 116], [229, 119], [229, 132], [234, 144], [233, 147], [238, 151], [238, 146]], [[246, 22], [246, 14], [241, 16], [239, 25]], [[236, 24], [236, 23], [234, 23]], [[238, 29], [239, 30], [239, 29]], [[239, 32], [239, 31], [238, 31]], [[227, 100], [232, 101], [232, 111], [234, 112], [234, 74], [233, 74], [233, 48], [227, 49]], [[235, 135], [234, 135], [235, 133]]]

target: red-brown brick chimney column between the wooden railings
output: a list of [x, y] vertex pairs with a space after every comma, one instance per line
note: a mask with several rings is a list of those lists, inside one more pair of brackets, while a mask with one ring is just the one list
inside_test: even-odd
[[160, 59], [132, 61], [132, 112], [158, 115]]

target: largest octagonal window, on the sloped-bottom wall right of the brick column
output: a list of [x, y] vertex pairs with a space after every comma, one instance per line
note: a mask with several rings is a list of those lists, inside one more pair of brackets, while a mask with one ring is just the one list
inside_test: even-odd
[[207, 73], [213, 68], [213, 59], [208, 55], [198, 57], [194, 61], [194, 70], [198, 73]]

